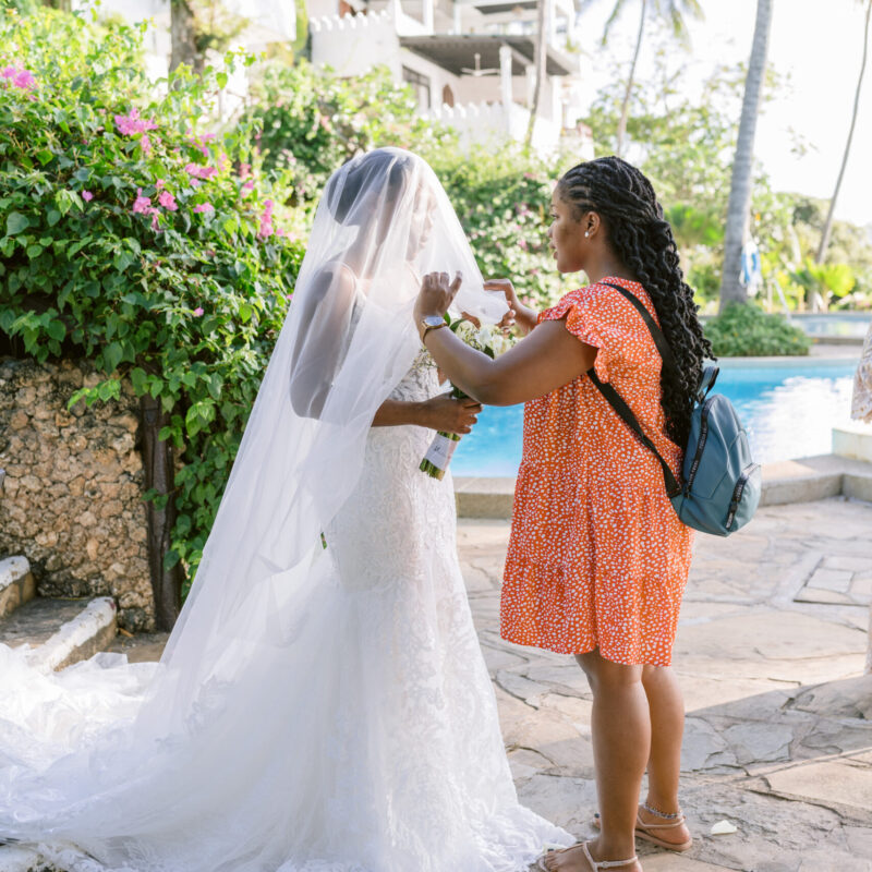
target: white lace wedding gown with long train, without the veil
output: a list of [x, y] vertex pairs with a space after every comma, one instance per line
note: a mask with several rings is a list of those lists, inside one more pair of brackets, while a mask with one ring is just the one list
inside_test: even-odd
[[[438, 390], [422, 352], [391, 397]], [[370, 431], [295, 622], [172, 735], [124, 728], [159, 666], [104, 656], [35, 680], [3, 649], [0, 837], [73, 872], [522, 872], [571, 844], [518, 803], [450, 476], [417, 469], [432, 436]]]

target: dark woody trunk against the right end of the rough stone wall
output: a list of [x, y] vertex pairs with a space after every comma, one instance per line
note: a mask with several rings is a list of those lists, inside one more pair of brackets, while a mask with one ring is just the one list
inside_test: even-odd
[[164, 557], [170, 549], [172, 526], [175, 523], [173, 499], [172, 443], [161, 441], [158, 434], [170, 423], [170, 416], [160, 405], [160, 400], [145, 396], [140, 401], [143, 420], [143, 464], [145, 487], [154, 488], [167, 496], [162, 509], [146, 502], [148, 521], [148, 570], [152, 591], [155, 595], [155, 618], [158, 630], [171, 630], [182, 607], [182, 567], [164, 569]]

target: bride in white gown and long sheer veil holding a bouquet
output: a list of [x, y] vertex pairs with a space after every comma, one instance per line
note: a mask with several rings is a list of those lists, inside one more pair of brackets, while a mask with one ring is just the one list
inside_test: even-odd
[[74, 872], [521, 872], [572, 843], [518, 803], [451, 483], [417, 470], [415, 424], [474, 416], [410, 325], [436, 268], [480, 279], [424, 161], [330, 178], [161, 662], [0, 646], [0, 840]]

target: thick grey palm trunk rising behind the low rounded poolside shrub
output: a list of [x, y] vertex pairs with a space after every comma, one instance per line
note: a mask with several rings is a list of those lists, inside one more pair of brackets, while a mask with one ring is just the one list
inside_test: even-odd
[[754, 162], [754, 133], [760, 99], [763, 94], [763, 80], [766, 73], [770, 29], [772, 27], [773, 0], [758, 0], [754, 41], [751, 60], [748, 62], [748, 76], [744, 80], [742, 116], [739, 122], [739, 136], [736, 143], [736, 157], [732, 160], [732, 179], [727, 206], [727, 226], [724, 232], [724, 272], [720, 278], [720, 311], [731, 302], [744, 303], [748, 295], [740, 282], [742, 244], [748, 231], [751, 208], [751, 182]]

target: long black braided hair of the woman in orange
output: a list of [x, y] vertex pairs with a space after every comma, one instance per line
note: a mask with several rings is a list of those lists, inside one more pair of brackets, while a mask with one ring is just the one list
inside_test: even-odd
[[702, 362], [713, 354], [697, 317], [693, 291], [679, 265], [673, 229], [663, 217], [654, 189], [626, 160], [601, 157], [569, 170], [557, 183], [557, 193], [577, 221], [589, 211], [601, 216], [611, 250], [654, 303], [677, 364], [675, 374], [665, 366], [661, 372], [666, 432], [683, 448]]

